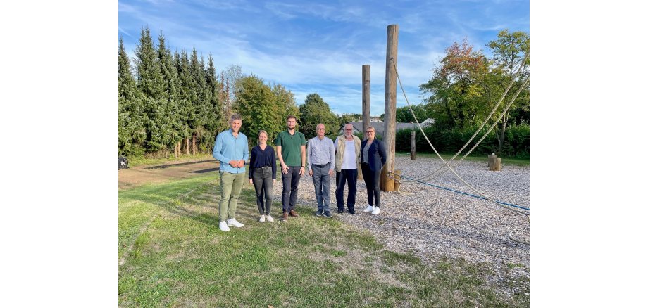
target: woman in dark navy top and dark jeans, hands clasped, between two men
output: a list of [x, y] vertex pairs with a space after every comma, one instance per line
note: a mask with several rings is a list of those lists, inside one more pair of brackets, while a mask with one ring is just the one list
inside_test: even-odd
[[275, 149], [268, 146], [267, 143], [268, 133], [263, 130], [258, 131], [258, 146], [252, 148], [250, 153], [248, 179], [250, 184], [254, 184], [256, 191], [256, 206], [258, 214], [261, 215], [258, 222], [275, 221], [270, 216], [270, 208], [273, 204], [273, 184], [277, 181], [277, 163], [275, 162]]

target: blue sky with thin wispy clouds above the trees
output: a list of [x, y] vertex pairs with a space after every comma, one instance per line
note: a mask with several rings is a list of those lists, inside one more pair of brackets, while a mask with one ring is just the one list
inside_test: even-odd
[[[132, 58], [142, 27], [172, 51], [211, 53], [295, 94], [318, 93], [334, 113], [361, 113], [370, 65], [371, 114], [385, 110], [387, 25], [399, 25], [398, 70], [410, 103], [455, 41], [487, 56], [497, 32], [529, 32], [529, 1], [119, 1], [119, 36]], [[397, 106], [406, 105], [397, 88]]]

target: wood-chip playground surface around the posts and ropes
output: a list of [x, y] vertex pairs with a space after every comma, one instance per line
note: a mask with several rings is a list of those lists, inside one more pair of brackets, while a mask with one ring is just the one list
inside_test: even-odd
[[[430, 174], [442, 165], [436, 158], [397, 157], [396, 166], [406, 177], [418, 178]], [[530, 208], [529, 168], [502, 165], [500, 172], [489, 171], [485, 162], [463, 161], [454, 167], [468, 184], [494, 200]], [[335, 178], [335, 176], [333, 177]], [[281, 202], [281, 179], [273, 189], [274, 200]], [[477, 195], [446, 172], [430, 184]], [[344, 196], [346, 199], [347, 188]], [[317, 208], [313, 180], [307, 174], [299, 184], [299, 205]], [[331, 212], [343, 222], [373, 233], [387, 249], [413, 252], [424, 262], [442, 257], [463, 258], [467, 262], [487, 264], [493, 274], [487, 281], [501, 293], [511, 295], [522, 288], [508, 277], [529, 278], [529, 245], [516, 243], [513, 238], [529, 240], [529, 220], [488, 200], [446, 191], [424, 184], [402, 185], [401, 193], [381, 193], [382, 212], [363, 213], [367, 205], [366, 186], [358, 181], [356, 214], [337, 214], [335, 179], [331, 182]], [[300, 213], [311, 214], [311, 213]]]

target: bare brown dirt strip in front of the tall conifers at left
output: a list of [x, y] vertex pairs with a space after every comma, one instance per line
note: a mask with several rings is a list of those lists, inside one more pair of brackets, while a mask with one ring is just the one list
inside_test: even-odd
[[186, 179], [206, 172], [218, 172], [218, 161], [182, 162], [170, 165], [137, 166], [119, 170], [119, 189], [149, 183]]

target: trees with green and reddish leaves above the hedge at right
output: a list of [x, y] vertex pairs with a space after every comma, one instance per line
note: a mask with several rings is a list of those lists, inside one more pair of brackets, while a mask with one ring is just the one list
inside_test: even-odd
[[[492, 59], [483, 56], [481, 51], [473, 51], [467, 39], [461, 45], [455, 42], [446, 50], [447, 54], [435, 68], [432, 79], [421, 84], [420, 90], [430, 94], [425, 98], [426, 107], [437, 127], [456, 131], [474, 127], [484, 120], [497, 120], [501, 115], [494, 132], [497, 146], [492, 153], [504, 155], [513, 151], [516, 155], [524, 155], [524, 150], [521, 150], [524, 146], [518, 144], [513, 149], [509, 147], [509, 150], [505, 150], [504, 141], [508, 140], [506, 129], [509, 118], [515, 124], [529, 123], [529, 85], [523, 84], [523, 79], [529, 75], [530, 60], [525, 60], [529, 36], [525, 32], [502, 30], [497, 34], [497, 40], [490, 41], [487, 46], [492, 49]], [[521, 65], [522, 74], [515, 76]], [[487, 119], [511, 80], [511, 90], [492, 117]], [[520, 96], [504, 112], [506, 103], [521, 87]]]

